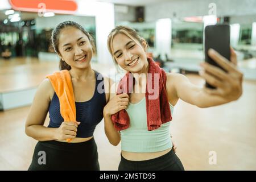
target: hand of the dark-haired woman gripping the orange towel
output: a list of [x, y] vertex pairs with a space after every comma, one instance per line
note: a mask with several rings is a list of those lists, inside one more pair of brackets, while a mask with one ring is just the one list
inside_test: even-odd
[[60, 127], [56, 129], [55, 138], [57, 140], [65, 140], [76, 138], [77, 127], [80, 122], [64, 121]]

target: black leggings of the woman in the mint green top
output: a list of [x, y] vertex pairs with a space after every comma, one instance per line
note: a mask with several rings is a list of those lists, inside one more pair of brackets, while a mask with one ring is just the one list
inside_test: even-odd
[[184, 167], [172, 149], [158, 158], [142, 161], [127, 160], [121, 154], [118, 171], [184, 171]]

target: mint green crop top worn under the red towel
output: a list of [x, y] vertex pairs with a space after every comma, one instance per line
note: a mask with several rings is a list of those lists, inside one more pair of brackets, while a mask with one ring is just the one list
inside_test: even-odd
[[[170, 109], [172, 113], [174, 106], [171, 104]], [[123, 151], [159, 152], [172, 147], [170, 122], [162, 124], [156, 130], [147, 130], [145, 97], [137, 104], [129, 103], [126, 111], [129, 114], [130, 127], [121, 131], [121, 149]]]

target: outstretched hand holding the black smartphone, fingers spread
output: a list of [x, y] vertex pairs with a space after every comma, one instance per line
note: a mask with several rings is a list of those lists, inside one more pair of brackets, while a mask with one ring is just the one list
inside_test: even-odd
[[204, 88], [210, 95], [220, 96], [226, 102], [237, 100], [242, 95], [243, 73], [237, 69], [237, 55], [230, 47], [230, 61], [221, 56], [218, 52], [210, 49], [208, 55], [222, 68], [214, 67], [209, 63], [201, 63], [204, 71], [200, 75], [216, 89]]

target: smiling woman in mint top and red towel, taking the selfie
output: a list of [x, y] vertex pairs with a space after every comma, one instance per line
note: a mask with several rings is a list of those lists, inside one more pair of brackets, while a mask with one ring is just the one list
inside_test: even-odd
[[[231, 61], [228, 61], [213, 49], [208, 52], [226, 71], [208, 63], [201, 64], [204, 68], [201, 76], [216, 86], [217, 89], [213, 90], [192, 84], [184, 75], [164, 73], [155, 65], [154, 60], [146, 56], [147, 43], [132, 28], [114, 28], [108, 37], [108, 48], [114, 63], [127, 72], [119, 82], [118, 89], [121, 92], [118, 91], [117, 96], [111, 95], [109, 103], [104, 107], [109, 142], [116, 146], [121, 140], [121, 162], [118, 169], [184, 170], [171, 145], [168, 121], [172, 118], [174, 106], [179, 99], [203, 108], [240, 98], [243, 75], [236, 67], [236, 53], [231, 48]], [[153, 76], [150, 77], [149, 73], [160, 77], [152, 80]], [[138, 76], [143, 74], [147, 75], [144, 81]], [[123, 82], [130, 80], [131, 90], [139, 88], [139, 92], [130, 92], [130, 82]], [[145, 82], [162, 88], [156, 98], [150, 100], [151, 95]], [[127, 89], [123, 86], [127, 86]], [[151, 118], [160, 120], [160, 123], [154, 119], [151, 121]], [[158, 124], [157, 127], [150, 124], [154, 122]]]

